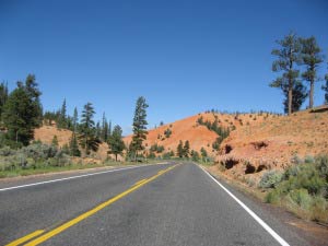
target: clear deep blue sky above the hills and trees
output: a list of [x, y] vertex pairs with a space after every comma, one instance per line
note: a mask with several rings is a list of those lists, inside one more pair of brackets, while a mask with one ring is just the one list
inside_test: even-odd
[[0, 81], [13, 89], [34, 73], [45, 109], [92, 102], [125, 133], [140, 95], [150, 127], [210, 108], [282, 113], [268, 86], [274, 40], [315, 35], [327, 55], [327, 10], [325, 0], [0, 0]]

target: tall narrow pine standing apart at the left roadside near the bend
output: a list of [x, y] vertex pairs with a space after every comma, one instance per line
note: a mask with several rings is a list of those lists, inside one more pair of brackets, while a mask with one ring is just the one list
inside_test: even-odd
[[147, 108], [149, 105], [145, 103], [145, 98], [140, 96], [137, 99], [134, 117], [133, 117], [133, 137], [130, 144], [130, 151], [134, 153], [134, 160], [137, 160], [139, 151], [144, 150], [142, 142], [147, 139]]

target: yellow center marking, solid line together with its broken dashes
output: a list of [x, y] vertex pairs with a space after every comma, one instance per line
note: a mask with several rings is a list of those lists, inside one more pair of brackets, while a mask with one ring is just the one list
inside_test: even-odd
[[[7, 246], [16, 246], [16, 245], [21, 245], [21, 244], [23, 244], [23, 243], [25, 243], [25, 242], [27, 242], [27, 241], [31, 241], [31, 239], [33, 239], [33, 238], [35, 238], [35, 237], [36, 237], [35, 239], [28, 242], [27, 244], [25, 244], [25, 246], [39, 245], [39, 244], [44, 243], [45, 241], [47, 241], [47, 239], [49, 239], [49, 238], [56, 236], [57, 234], [59, 234], [59, 233], [66, 231], [67, 229], [73, 226], [74, 224], [78, 224], [79, 222], [85, 220], [86, 218], [89, 218], [89, 216], [95, 214], [96, 212], [101, 211], [102, 209], [104, 209], [104, 208], [110, 206], [110, 204], [114, 203], [115, 201], [118, 201], [119, 199], [121, 199], [121, 198], [126, 197], [127, 195], [133, 192], [134, 190], [137, 190], [137, 189], [139, 189], [140, 187], [147, 185], [148, 183], [154, 180], [155, 178], [157, 178], [157, 177], [160, 177], [161, 175], [167, 173], [168, 171], [173, 169], [173, 168], [176, 167], [176, 166], [177, 166], [177, 165], [174, 165], [174, 166], [171, 166], [171, 167], [168, 167], [168, 168], [166, 168], [166, 169], [162, 169], [162, 171], [160, 171], [156, 175], [154, 175], [154, 176], [152, 176], [152, 177], [150, 177], [150, 178], [141, 179], [140, 181], [136, 183], [131, 188], [127, 189], [126, 191], [124, 191], [124, 192], [121, 192], [121, 194], [115, 196], [114, 198], [112, 198], [112, 199], [109, 199], [109, 200], [107, 200], [107, 201], [105, 201], [105, 202], [103, 202], [103, 203], [96, 206], [95, 208], [89, 210], [87, 212], [82, 213], [81, 215], [79, 215], [79, 216], [77, 216], [77, 218], [74, 218], [74, 219], [72, 219], [72, 220], [70, 220], [70, 221], [68, 221], [68, 222], [66, 222], [66, 223], [59, 225], [58, 227], [52, 229], [51, 231], [49, 231], [49, 232], [47, 232], [47, 233], [45, 233], [44, 230], [37, 230], [37, 231], [35, 231], [35, 232], [33, 232], [33, 233], [31, 233], [31, 234], [28, 234], [28, 235], [26, 235], [26, 236], [24, 236], [24, 237], [21, 237], [21, 238], [16, 239], [16, 241], [11, 242], [11, 243], [8, 244]], [[44, 234], [44, 233], [45, 233], [45, 234]], [[37, 237], [37, 236], [38, 236], [38, 237]]]

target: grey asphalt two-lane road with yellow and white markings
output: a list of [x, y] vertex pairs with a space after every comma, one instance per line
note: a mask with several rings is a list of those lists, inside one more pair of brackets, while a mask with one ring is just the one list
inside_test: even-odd
[[195, 164], [149, 165], [4, 189], [24, 185], [14, 183], [0, 183], [0, 245], [309, 245]]

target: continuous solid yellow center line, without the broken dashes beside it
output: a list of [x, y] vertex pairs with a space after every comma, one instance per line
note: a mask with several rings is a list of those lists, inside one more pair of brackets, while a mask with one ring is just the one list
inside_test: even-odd
[[142, 183], [140, 183], [140, 184], [138, 184], [138, 185], [136, 185], [136, 186], [133, 186], [133, 187], [127, 189], [126, 191], [124, 191], [124, 192], [117, 195], [116, 197], [114, 197], [114, 198], [112, 198], [112, 199], [109, 199], [109, 200], [107, 200], [107, 201], [105, 201], [105, 202], [98, 204], [97, 207], [93, 208], [92, 210], [89, 210], [87, 212], [82, 213], [81, 215], [74, 218], [73, 220], [70, 220], [70, 221], [63, 223], [62, 225], [60, 225], [60, 226], [58, 226], [58, 227], [56, 227], [56, 229], [54, 229], [54, 230], [51, 230], [51, 231], [45, 233], [44, 235], [42, 235], [42, 236], [39, 236], [39, 237], [37, 237], [37, 238], [35, 238], [35, 239], [33, 239], [32, 242], [25, 244], [25, 246], [34, 246], [34, 245], [39, 245], [39, 244], [42, 244], [43, 242], [45, 242], [45, 241], [47, 241], [47, 239], [49, 239], [49, 238], [56, 236], [57, 234], [63, 232], [65, 230], [67, 230], [67, 229], [71, 227], [71, 226], [73, 226], [74, 224], [78, 224], [79, 222], [85, 220], [86, 218], [89, 218], [89, 216], [95, 214], [95, 213], [98, 212], [99, 210], [106, 208], [107, 206], [114, 203], [115, 201], [118, 201], [119, 199], [121, 199], [121, 198], [126, 197], [127, 195], [131, 194], [132, 191], [134, 191], [134, 190], [139, 189], [140, 187], [147, 185], [148, 183], [154, 180], [154, 179], [157, 178], [159, 176], [161, 176], [161, 175], [167, 173], [168, 171], [173, 169], [173, 168], [176, 167], [176, 166], [177, 166], [177, 165], [174, 165], [174, 166], [171, 166], [171, 167], [164, 169], [162, 173], [156, 174], [156, 175], [154, 175], [154, 176], [152, 176], [152, 177], [145, 179], [144, 181], [142, 181]]

